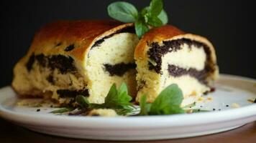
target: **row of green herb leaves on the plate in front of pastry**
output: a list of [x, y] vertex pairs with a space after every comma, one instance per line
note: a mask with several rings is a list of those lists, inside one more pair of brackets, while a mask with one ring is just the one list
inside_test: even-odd
[[[74, 115], [86, 113], [92, 109], [114, 109], [117, 114], [127, 116], [132, 112], [138, 112], [137, 108], [131, 103], [132, 97], [129, 96], [127, 85], [122, 83], [119, 89], [116, 88], [116, 84], [113, 84], [109, 89], [109, 93], [105, 98], [103, 104], [90, 103], [87, 97], [78, 95], [76, 97], [76, 103], [78, 107], [63, 107], [50, 113], [64, 113], [71, 112], [78, 109], [78, 112]], [[147, 97], [143, 95], [140, 98], [140, 113], [136, 115], [163, 115], [163, 114], [180, 114], [180, 113], [192, 113], [192, 112], [209, 112], [204, 109], [186, 109], [186, 107], [193, 107], [196, 103], [189, 104], [186, 107], [181, 108], [181, 102], [183, 101], [183, 93], [177, 84], [170, 84], [170, 86], [163, 89], [163, 91], [157, 96], [154, 102], [147, 103]], [[214, 109], [215, 110], [215, 109]], [[73, 114], [71, 114], [73, 115]]]

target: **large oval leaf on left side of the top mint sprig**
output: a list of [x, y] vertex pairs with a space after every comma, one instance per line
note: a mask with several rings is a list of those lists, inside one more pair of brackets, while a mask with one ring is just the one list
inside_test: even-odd
[[109, 4], [107, 10], [111, 18], [125, 23], [134, 22], [138, 15], [137, 9], [132, 4], [124, 1]]

